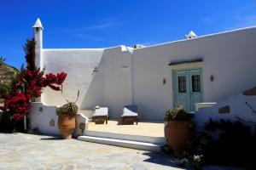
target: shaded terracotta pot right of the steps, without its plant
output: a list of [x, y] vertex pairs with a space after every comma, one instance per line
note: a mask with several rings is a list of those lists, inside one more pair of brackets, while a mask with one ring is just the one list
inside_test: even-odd
[[169, 146], [172, 147], [174, 156], [182, 156], [185, 143], [191, 138], [191, 128], [189, 121], [169, 121], [166, 136]]

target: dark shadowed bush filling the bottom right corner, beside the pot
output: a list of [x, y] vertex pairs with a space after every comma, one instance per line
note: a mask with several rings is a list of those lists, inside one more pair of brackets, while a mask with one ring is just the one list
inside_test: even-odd
[[251, 127], [239, 121], [210, 120], [205, 131], [196, 133], [187, 143], [183, 166], [201, 169], [211, 164], [256, 169], [255, 152], [256, 131], [252, 133]]

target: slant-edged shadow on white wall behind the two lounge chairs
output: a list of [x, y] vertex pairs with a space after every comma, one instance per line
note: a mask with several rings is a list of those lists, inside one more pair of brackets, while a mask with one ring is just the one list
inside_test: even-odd
[[[124, 68], [125, 65], [125, 68]], [[104, 50], [98, 71], [84, 89], [80, 109], [108, 107], [110, 117], [119, 118], [124, 105], [131, 105], [131, 54], [120, 47]]]

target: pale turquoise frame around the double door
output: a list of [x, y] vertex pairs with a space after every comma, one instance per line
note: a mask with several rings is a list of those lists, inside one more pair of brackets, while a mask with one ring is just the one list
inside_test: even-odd
[[[176, 83], [176, 72], [177, 71], [190, 71], [190, 70], [201, 70], [201, 101], [204, 101], [204, 90], [203, 90], [203, 72], [202, 72], [202, 66], [201, 65], [195, 65], [195, 66], [182, 66], [182, 67], [175, 67], [172, 68], [172, 107], [175, 107], [177, 105], [177, 83]], [[191, 77], [189, 77], [190, 79]], [[191, 83], [191, 82], [189, 82]], [[190, 86], [191, 84], [189, 84]], [[190, 87], [189, 87], [190, 88]], [[190, 92], [189, 92], [190, 93]], [[190, 99], [189, 99], [190, 100]]]

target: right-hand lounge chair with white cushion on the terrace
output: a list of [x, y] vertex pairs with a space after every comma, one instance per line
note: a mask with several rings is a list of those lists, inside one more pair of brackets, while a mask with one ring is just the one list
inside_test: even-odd
[[138, 116], [137, 116], [137, 105], [125, 105], [123, 109], [123, 115], [122, 115], [122, 122], [124, 123], [125, 120], [132, 120], [134, 122], [138, 122]]

